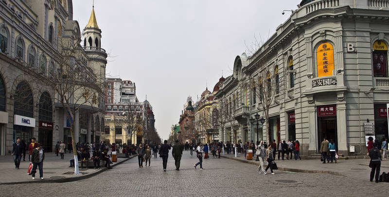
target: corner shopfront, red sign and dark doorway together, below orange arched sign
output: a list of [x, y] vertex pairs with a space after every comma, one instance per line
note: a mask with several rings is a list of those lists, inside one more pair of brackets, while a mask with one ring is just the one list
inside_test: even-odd
[[334, 140], [337, 150], [336, 105], [318, 106], [318, 149], [324, 137]]

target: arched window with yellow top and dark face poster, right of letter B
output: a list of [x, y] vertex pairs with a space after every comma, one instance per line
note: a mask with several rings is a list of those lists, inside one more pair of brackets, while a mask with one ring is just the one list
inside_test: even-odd
[[388, 46], [382, 40], [373, 43], [373, 73], [375, 77], [388, 77]]

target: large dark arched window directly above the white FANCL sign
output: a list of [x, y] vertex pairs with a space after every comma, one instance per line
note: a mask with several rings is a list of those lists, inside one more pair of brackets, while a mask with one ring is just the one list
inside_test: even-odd
[[14, 114], [33, 117], [33, 112], [33, 91], [31, 91], [27, 82], [22, 81], [18, 84], [15, 91]]

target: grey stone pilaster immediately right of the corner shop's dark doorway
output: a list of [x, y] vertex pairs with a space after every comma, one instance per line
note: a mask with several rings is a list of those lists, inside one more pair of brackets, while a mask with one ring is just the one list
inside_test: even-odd
[[336, 105], [337, 149], [339, 154], [348, 155], [346, 130], [346, 103]]

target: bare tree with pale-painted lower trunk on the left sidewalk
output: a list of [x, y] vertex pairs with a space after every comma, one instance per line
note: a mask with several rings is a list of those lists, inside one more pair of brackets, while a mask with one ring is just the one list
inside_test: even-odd
[[58, 38], [59, 55], [55, 57], [57, 66], [49, 64], [48, 72], [43, 65], [35, 68], [38, 75], [33, 77], [38, 91], [48, 88], [55, 92], [55, 102], [59, 103], [71, 122], [71, 143], [74, 154], [74, 173], [79, 174], [77, 149], [74, 139], [74, 115], [81, 106], [102, 108], [105, 88], [105, 75], [88, 66], [89, 58], [80, 45], [80, 38]]

